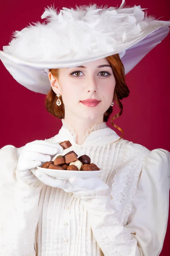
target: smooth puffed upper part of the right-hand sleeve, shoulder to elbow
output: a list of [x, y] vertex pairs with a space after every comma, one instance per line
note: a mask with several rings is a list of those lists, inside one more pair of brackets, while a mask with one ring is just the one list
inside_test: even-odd
[[133, 234], [143, 256], [161, 253], [167, 230], [170, 189], [170, 153], [151, 151], [144, 163], [126, 230]]

